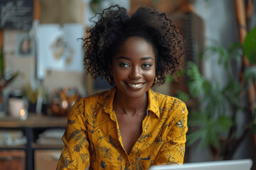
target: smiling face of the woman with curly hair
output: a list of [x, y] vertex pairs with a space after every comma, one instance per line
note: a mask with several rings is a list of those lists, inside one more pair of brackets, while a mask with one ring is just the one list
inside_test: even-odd
[[144, 38], [128, 38], [112, 59], [112, 77], [117, 93], [129, 98], [146, 94], [156, 77], [155, 54]]

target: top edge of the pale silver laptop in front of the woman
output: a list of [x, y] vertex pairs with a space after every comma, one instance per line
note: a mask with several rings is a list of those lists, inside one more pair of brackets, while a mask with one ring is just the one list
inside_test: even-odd
[[149, 170], [250, 170], [252, 159], [238, 159], [218, 162], [187, 163], [183, 165], [154, 165]]

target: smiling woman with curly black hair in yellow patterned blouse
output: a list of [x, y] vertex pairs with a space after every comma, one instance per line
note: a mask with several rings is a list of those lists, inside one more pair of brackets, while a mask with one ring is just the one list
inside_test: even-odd
[[114, 85], [75, 103], [57, 169], [148, 169], [183, 164], [187, 114], [152, 91], [181, 69], [183, 40], [166, 14], [111, 6], [85, 38], [85, 67]]

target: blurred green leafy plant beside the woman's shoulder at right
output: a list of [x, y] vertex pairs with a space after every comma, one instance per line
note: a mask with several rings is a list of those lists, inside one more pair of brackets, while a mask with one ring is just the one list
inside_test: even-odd
[[[187, 137], [190, 146], [199, 140], [199, 148], [210, 147], [215, 159], [232, 159], [236, 150], [248, 132], [256, 132], [256, 108], [250, 109], [243, 102], [247, 90], [256, 81], [256, 66], [246, 67], [244, 83], [238, 79], [238, 72], [231, 63], [241, 64], [241, 56], [245, 54], [251, 64], [256, 64], [256, 27], [247, 34], [242, 47], [240, 43], [225, 49], [221, 45], [207, 47], [201, 57], [218, 55], [218, 64], [228, 74], [223, 88], [215, 81], [202, 76], [193, 62], [187, 63], [188, 89], [193, 98], [198, 98], [198, 109], [193, 109], [188, 117], [188, 126], [196, 127]], [[238, 129], [238, 114], [247, 115], [248, 120], [242, 129]], [[242, 132], [238, 135], [238, 131]]]

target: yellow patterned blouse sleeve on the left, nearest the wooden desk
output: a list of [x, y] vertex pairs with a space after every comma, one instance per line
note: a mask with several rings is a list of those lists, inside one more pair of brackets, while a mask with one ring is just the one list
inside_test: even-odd
[[68, 116], [68, 125], [63, 135], [64, 147], [58, 160], [57, 170], [84, 170], [90, 164], [84, 114], [84, 104], [76, 101]]

